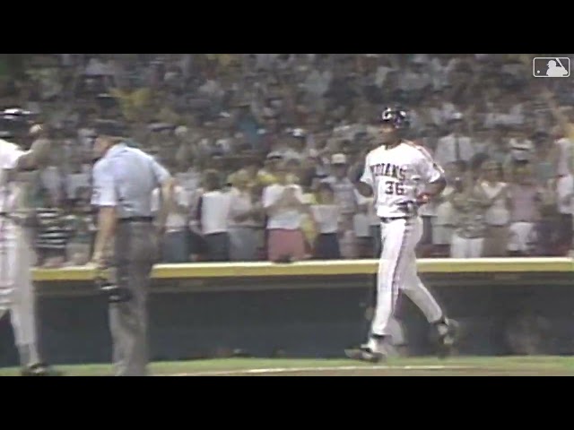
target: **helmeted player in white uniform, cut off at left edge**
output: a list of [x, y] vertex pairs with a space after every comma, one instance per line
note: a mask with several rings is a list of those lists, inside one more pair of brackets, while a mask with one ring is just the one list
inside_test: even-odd
[[[2, 113], [2, 118], [27, 129], [25, 112]], [[24, 128], [25, 127], [25, 128]], [[36, 309], [31, 265], [28, 215], [22, 208], [22, 182], [17, 176], [39, 168], [48, 159], [49, 142], [42, 139], [22, 150], [12, 142], [0, 140], [0, 315], [10, 312], [14, 339], [19, 350], [22, 375], [56, 374], [39, 357]]]

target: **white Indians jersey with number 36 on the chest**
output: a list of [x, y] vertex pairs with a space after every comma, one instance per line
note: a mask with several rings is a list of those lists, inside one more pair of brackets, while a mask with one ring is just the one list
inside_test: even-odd
[[404, 217], [401, 202], [414, 201], [425, 185], [438, 181], [444, 171], [431, 154], [403, 141], [393, 148], [380, 146], [365, 159], [361, 182], [373, 189], [373, 204], [379, 218]]

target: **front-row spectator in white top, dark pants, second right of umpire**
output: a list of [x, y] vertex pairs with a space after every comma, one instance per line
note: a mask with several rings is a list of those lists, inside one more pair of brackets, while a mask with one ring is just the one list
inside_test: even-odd
[[196, 220], [204, 237], [208, 262], [230, 261], [230, 193], [222, 192], [219, 176], [215, 170], [207, 170], [204, 173], [205, 191], [196, 208]]

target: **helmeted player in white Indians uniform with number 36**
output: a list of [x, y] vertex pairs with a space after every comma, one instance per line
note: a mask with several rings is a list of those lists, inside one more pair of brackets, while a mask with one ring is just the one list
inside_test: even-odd
[[390, 354], [390, 322], [395, 316], [399, 291], [404, 291], [436, 328], [439, 357], [450, 352], [457, 323], [443, 313], [437, 301], [417, 275], [415, 247], [422, 237], [418, 208], [431, 201], [446, 186], [444, 172], [422, 147], [401, 138], [408, 126], [406, 112], [387, 108], [382, 114], [382, 145], [371, 150], [359, 192], [374, 195], [381, 220], [383, 249], [378, 268], [375, 314], [369, 340], [361, 348], [345, 350], [347, 357], [377, 363]]

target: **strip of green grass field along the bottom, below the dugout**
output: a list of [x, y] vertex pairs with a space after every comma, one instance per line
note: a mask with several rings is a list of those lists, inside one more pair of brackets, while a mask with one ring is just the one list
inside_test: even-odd
[[[57, 366], [69, 376], [109, 376], [109, 365]], [[225, 358], [151, 365], [158, 376], [574, 376], [574, 357], [396, 358], [373, 366], [351, 360]], [[0, 368], [15, 376], [17, 368]]]

